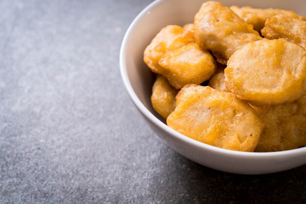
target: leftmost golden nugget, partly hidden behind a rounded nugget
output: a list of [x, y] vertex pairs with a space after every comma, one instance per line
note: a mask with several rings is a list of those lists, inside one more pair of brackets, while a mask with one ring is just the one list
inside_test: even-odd
[[194, 34], [178, 25], [167, 25], [154, 37], [144, 51], [144, 62], [159, 74], [158, 61], [169, 51], [194, 41]]

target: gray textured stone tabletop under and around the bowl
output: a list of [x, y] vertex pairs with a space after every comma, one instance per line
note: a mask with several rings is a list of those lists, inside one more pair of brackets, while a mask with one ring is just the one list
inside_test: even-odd
[[0, 203], [305, 203], [306, 165], [219, 172], [143, 121], [118, 59], [150, 2], [0, 1]]

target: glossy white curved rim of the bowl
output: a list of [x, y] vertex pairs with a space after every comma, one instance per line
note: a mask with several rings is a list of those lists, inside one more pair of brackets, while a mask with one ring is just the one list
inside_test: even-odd
[[[120, 48], [120, 55], [119, 55], [119, 66], [120, 66], [120, 75], [121, 79], [125, 85], [126, 90], [128, 91], [128, 94], [131, 98], [131, 101], [134, 103], [136, 108], [142, 113], [142, 115], [148, 119], [150, 122], [158, 126], [160, 129], [163, 129], [166, 131], [168, 134], [172, 135], [176, 139], [183, 141], [184, 143], [189, 143], [193, 146], [197, 146], [198, 148], [203, 148], [208, 151], [218, 153], [218, 154], [226, 154], [228, 156], [235, 156], [235, 157], [240, 157], [240, 158], [253, 158], [253, 159], [258, 159], [258, 158], [271, 158], [275, 156], [291, 156], [291, 155], [302, 155], [306, 154], [306, 147], [301, 147], [297, 149], [291, 149], [291, 150], [284, 150], [284, 151], [277, 151], [277, 152], [243, 152], [243, 151], [236, 151], [236, 150], [229, 150], [229, 149], [223, 149], [220, 147], [212, 146], [206, 143], [201, 143], [199, 141], [196, 141], [194, 139], [191, 139], [179, 132], [176, 132], [174, 129], [166, 125], [165, 123], [161, 122], [158, 118], [156, 118], [153, 113], [151, 113], [145, 105], [139, 100], [137, 97], [136, 93], [134, 92], [132, 86], [131, 86], [131, 81], [129, 80], [128, 77], [128, 72], [127, 72], [127, 66], [126, 66], [126, 51], [127, 51], [127, 42], [131, 36], [131, 32], [135, 25], [138, 23], [140, 19], [142, 19], [145, 14], [150, 12], [150, 10], [154, 9], [157, 7], [159, 4], [163, 3], [164, 1], [167, 0], [155, 0], [152, 3], [150, 3], [148, 6], [146, 6], [137, 16], [136, 18], [131, 22], [128, 30], [126, 31], [121, 48]], [[205, 0], [203, 1], [205, 2]]]

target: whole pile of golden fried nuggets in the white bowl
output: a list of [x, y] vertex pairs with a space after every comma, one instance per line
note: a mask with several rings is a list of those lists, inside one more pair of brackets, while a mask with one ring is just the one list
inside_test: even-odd
[[293, 11], [205, 2], [144, 61], [153, 108], [177, 132], [237, 151], [306, 146], [306, 19]]

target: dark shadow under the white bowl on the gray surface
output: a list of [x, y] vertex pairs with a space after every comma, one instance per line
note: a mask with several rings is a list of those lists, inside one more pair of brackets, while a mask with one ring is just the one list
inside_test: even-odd
[[150, 189], [157, 202], [161, 192], [162, 203], [306, 202], [306, 165], [273, 174], [240, 175], [202, 166], [173, 150], [168, 152], [168, 162], [160, 160]]

